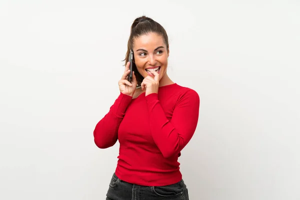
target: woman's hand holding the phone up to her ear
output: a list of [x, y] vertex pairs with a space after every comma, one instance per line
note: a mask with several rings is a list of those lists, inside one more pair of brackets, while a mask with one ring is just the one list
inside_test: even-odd
[[121, 79], [118, 81], [118, 85], [119, 85], [120, 92], [122, 92], [123, 94], [127, 94], [129, 96], [133, 96], [133, 93], [134, 93], [135, 88], [136, 88], [137, 81], [136, 81], [134, 71], [132, 71], [132, 80], [131, 80], [131, 82], [129, 82], [127, 80], [127, 76], [130, 72], [129, 64], [130, 64], [130, 62], [127, 62], [126, 66], [125, 66], [125, 71], [124, 71]]

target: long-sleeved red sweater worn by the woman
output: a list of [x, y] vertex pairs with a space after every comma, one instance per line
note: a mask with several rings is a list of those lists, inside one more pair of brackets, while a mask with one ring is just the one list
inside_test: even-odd
[[177, 159], [195, 131], [199, 103], [197, 92], [176, 83], [133, 99], [120, 93], [96, 124], [94, 142], [107, 148], [119, 140], [115, 174], [121, 180], [144, 186], [176, 183], [182, 178]]

